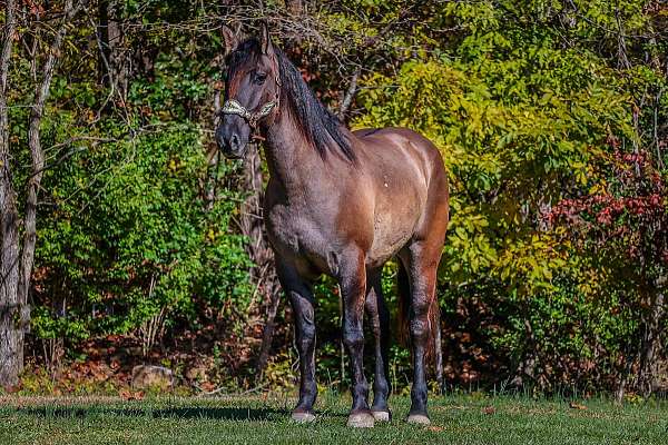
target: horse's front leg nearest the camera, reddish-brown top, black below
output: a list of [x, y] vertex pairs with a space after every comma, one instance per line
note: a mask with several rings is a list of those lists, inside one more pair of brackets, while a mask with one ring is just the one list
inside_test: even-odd
[[353, 377], [353, 406], [347, 425], [371, 427], [374, 418], [369, 409], [369, 384], [364, 376], [364, 301], [366, 295], [366, 270], [364, 254], [358, 249], [347, 251], [337, 261], [338, 280], [343, 298], [343, 343], [351, 357]]

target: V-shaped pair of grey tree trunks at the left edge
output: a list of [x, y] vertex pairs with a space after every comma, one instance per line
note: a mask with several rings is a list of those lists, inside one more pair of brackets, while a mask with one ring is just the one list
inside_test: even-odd
[[37, 86], [30, 120], [28, 125], [28, 148], [31, 158], [31, 175], [26, 190], [26, 214], [23, 215], [22, 251], [19, 239], [19, 215], [17, 194], [11, 181], [9, 155], [9, 117], [7, 111], [7, 85], [9, 59], [16, 32], [16, 6], [13, 1], [6, 3], [6, 23], [0, 58], [0, 204], [2, 206], [2, 291], [0, 293], [0, 385], [13, 386], [23, 367], [23, 335], [30, 326], [30, 306], [28, 294], [35, 261], [37, 238], [37, 197], [45, 168], [45, 155], [40, 142], [41, 118], [49, 97], [51, 79], [56, 61], [60, 56], [60, 47], [75, 14], [82, 8], [84, 1], [67, 0], [63, 17], [53, 41], [49, 47], [42, 76]]

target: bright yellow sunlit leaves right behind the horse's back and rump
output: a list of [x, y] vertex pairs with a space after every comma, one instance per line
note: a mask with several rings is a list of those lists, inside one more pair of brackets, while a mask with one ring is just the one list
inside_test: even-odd
[[[527, 56], [551, 58], [550, 67], [583, 61], [541, 48]], [[626, 110], [617, 90], [592, 85], [590, 77], [579, 89], [570, 85], [568, 93], [532, 92], [541, 73], [554, 76], [542, 71], [541, 63], [522, 60], [462, 65], [428, 59], [404, 63], [393, 79], [380, 75], [365, 79], [369, 89], [361, 96], [369, 112], [358, 126], [405, 126], [442, 148], [453, 185], [446, 257], [460, 276], [463, 269], [478, 274], [497, 268], [504, 269], [503, 279], [533, 274], [527, 267], [497, 264], [497, 253], [508, 249], [503, 240], [524, 243], [521, 234], [531, 231], [527, 218], [537, 212], [531, 207], [546, 196], [560, 196], [564, 180], [588, 184], [591, 147], [605, 140], [611, 127], [628, 130], [623, 121], [619, 123]], [[513, 255], [533, 258], [540, 247], [518, 248]], [[532, 277], [549, 281], [550, 274]]]

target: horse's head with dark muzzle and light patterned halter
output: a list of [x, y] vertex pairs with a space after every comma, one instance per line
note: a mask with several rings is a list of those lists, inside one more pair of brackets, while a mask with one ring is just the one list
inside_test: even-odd
[[229, 158], [242, 158], [257, 126], [264, 125], [278, 109], [278, 63], [269, 32], [262, 23], [259, 39], [237, 43], [233, 32], [225, 31], [226, 44], [236, 48], [228, 58], [225, 102], [216, 141]]

